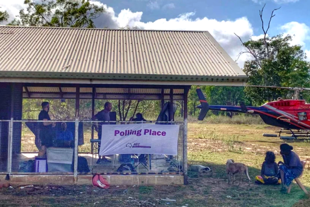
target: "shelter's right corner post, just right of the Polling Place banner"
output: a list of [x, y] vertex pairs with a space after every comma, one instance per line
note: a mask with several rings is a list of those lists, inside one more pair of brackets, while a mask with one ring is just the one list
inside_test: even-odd
[[187, 97], [189, 87], [184, 87], [184, 139], [183, 139], [183, 169], [184, 169], [184, 185], [188, 184], [187, 179]]

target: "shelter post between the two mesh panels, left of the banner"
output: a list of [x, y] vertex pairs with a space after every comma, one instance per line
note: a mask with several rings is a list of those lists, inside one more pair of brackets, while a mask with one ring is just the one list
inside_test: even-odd
[[80, 116], [80, 86], [75, 91], [75, 133], [74, 133], [74, 183], [78, 183], [78, 125]]

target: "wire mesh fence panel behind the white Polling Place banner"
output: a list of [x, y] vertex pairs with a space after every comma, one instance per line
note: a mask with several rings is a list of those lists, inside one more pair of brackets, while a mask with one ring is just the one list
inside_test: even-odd
[[[79, 173], [103, 174], [177, 174], [183, 173], [184, 166], [184, 123], [183, 122], [156, 122], [147, 121], [146, 124], [178, 124], [178, 154], [115, 154], [99, 156], [101, 134], [95, 130], [94, 124], [139, 124], [141, 122], [111, 121], [111, 122], [83, 122], [84, 144], [79, 146], [79, 163], [88, 164], [89, 168], [78, 165]], [[98, 127], [100, 128], [100, 127]], [[103, 139], [104, 139], [104, 132]]]

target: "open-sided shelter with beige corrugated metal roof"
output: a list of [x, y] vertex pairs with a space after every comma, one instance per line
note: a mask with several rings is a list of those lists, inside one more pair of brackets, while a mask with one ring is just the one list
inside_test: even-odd
[[[84, 156], [92, 173], [103, 174], [111, 185], [186, 184], [188, 90], [191, 85], [243, 86], [246, 80], [207, 31], [0, 26], [0, 173], [9, 174], [13, 183], [89, 184], [91, 172], [78, 170]], [[22, 119], [28, 98], [76, 100], [75, 119], [59, 120], [73, 124], [71, 171], [20, 169], [38, 153], [29, 124], [33, 120]], [[162, 107], [165, 101], [184, 101], [184, 119], [174, 122], [170, 104], [167, 122], [180, 125], [178, 155], [168, 165], [149, 156], [152, 167], [142, 170], [138, 163], [138, 173], [116, 171], [118, 155], [112, 164], [94, 168], [94, 121], [79, 118], [81, 99], [92, 100], [92, 115], [96, 99], [159, 100]], [[85, 153], [87, 146], [91, 151]], [[167, 171], [173, 166], [178, 170]]]

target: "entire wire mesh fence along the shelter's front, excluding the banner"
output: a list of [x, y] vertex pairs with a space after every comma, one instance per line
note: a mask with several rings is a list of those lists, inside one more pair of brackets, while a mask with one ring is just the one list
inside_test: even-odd
[[[104, 124], [135, 123], [141, 122], [115, 121]], [[98, 152], [104, 132], [97, 132], [95, 125], [103, 124], [98, 121], [0, 121], [0, 172], [70, 174], [74, 172], [76, 161], [76, 172], [79, 174], [184, 173], [184, 123], [144, 123], [179, 125], [178, 154], [116, 154], [101, 157]], [[78, 146], [77, 156], [74, 153], [75, 146]]]

